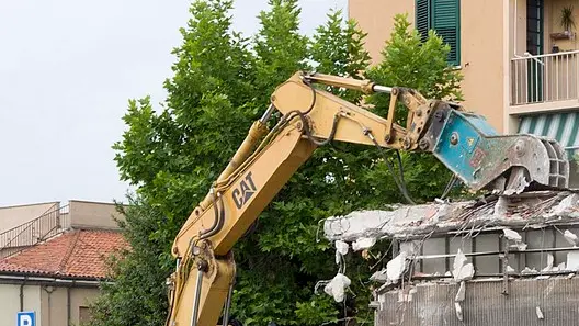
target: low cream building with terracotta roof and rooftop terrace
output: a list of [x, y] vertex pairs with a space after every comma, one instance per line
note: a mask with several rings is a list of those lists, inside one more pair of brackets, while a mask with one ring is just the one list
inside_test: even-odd
[[88, 321], [106, 280], [104, 258], [126, 246], [117, 220], [112, 203], [0, 207], [0, 325], [29, 325], [31, 315], [34, 326]]

